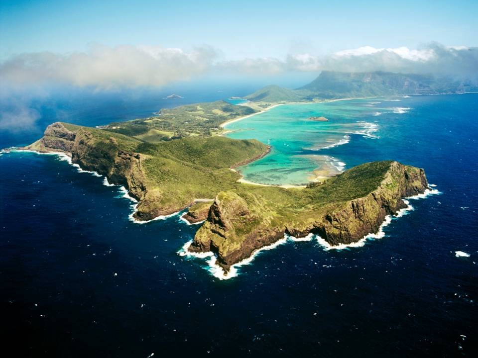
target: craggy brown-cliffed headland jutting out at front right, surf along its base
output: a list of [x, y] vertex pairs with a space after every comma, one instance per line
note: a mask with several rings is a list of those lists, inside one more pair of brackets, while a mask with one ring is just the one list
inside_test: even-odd
[[295, 237], [318, 234], [331, 245], [357, 242], [376, 233], [386, 215], [405, 207], [403, 197], [422, 193], [428, 186], [422, 169], [397, 162], [384, 165], [386, 170], [380, 172], [380, 180], [368, 193], [350, 200], [337, 197], [336, 202], [317, 200], [315, 190], [333, 195], [334, 185], [343, 185], [336, 180], [330, 187], [304, 189], [309, 192], [296, 197], [302, 201], [300, 209], [292, 206], [293, 197], [286, 197], [289, 202], [285, 203], [283, 198], [274, 201], [279, 191], [268, 197], [232, 191], [219, 193], [189, 250], [214, 252], [219, 265], [228, 270], [255, 250], [281, 239], [284, 233]]

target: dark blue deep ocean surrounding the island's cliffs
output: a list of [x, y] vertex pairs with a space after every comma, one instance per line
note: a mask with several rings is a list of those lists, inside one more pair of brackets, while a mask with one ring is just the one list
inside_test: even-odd
[[[177, 254], [197, 226], [178, 217], [132, 223], [118, 187], [55, 156], [2, 154], [2, 351], [477, 357], [478, 94], [399, 106], [410, 109], [370, 118], [380, 139], [352, 135], [324, 154], [348, 167], [378, 159], [422, 167], [442, 194], [413, 200], [413, 211], [363, 247], [290, 242], [223, 281], [203, 260]], [[14, 138], [6, 145], [26, 140]]]

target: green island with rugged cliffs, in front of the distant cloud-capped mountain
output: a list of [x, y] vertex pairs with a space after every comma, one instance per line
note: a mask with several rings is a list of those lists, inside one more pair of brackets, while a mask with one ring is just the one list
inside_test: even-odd
[[[415, 93], [416, 88], [407, 93]], [[247, 96], [251, 102], [244, 105], [189, 104], [101, 128], [56, 122], [23, 149], [65, 153], [80, 168], [123, 185], [138, 201], [135, 220], [188, 208], [184, 219], [204, 222], [187, 250], [213, 252], [225, 272], [285, 234], [317, 234], [332, 246], [357, 242], [377, 233], [387, 215], [404, 208], [404, 197], [427, 189], [422, 169], [395, 161], [362, 164], [303, 187], [240, 182], [234, 168], [267, 155], [270, 147], [257, 140], [223, 137], [223, 124], [282, 101], [296, 101], [297, 93], [304, 93], [304, 89], [279, 89], [259, 90]], [[287, 93], [292, 97], [288, 99]]]

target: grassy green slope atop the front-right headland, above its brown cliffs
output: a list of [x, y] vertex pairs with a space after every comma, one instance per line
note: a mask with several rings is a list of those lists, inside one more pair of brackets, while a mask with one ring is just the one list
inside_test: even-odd
[[211, 234], [209, 223], [200, 228], [197, 236], [200, 240], [204, 237], [207, 242], [212, 235], [220, 252], [226, 256], [237, 250], [253, 230], [306, 226], [326, 212], [344, 207], [349, 200], [367, 195], [379, 186], [390, 164], [391, 161], [366, 163], [313, 188], [237, 186], [218, 195], [226, 207], [237, 206], [244, 200], [249, 210], [234, 222], [234, 231], [230, 232], [228, 239]]

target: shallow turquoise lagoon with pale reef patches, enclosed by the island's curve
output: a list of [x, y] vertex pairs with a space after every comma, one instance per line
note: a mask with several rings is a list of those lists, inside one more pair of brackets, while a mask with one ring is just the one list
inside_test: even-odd
[[[379, 140], [381, 123], [409, 111], [409, 98], [356, 99], [280, 105], [226, 125], [227, 136], [258, 139], [272, 146], [266, 157], [239, 168], [244, 179], [263, 184], [304, 184], [317, 176], [336, 175], [345, 158], [327, 153], [357, 138]], [[324, 116], [328, 122], [309, 117]]]

